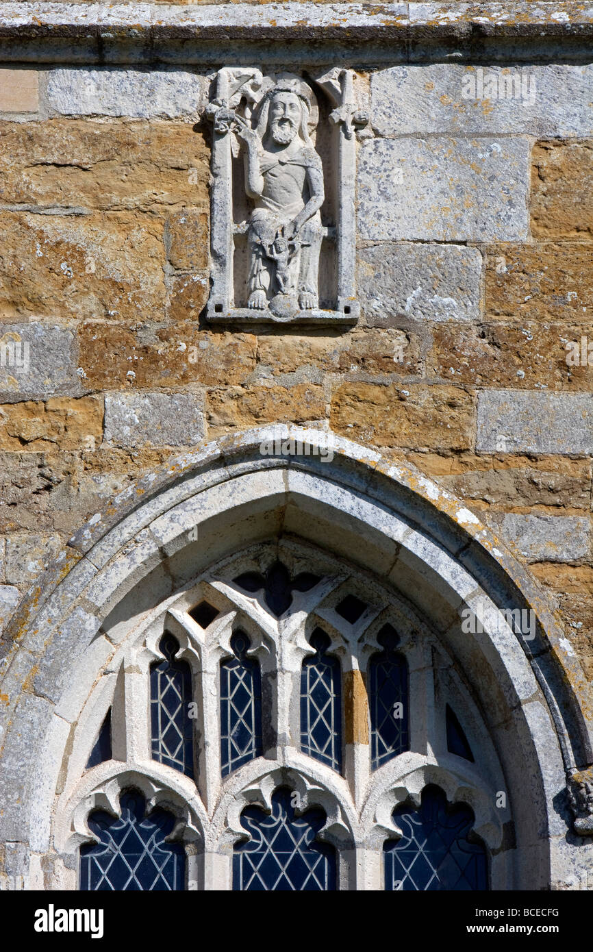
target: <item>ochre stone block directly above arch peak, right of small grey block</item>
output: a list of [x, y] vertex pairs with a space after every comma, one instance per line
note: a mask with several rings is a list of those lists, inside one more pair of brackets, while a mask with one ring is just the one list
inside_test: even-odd
[[266, 423], [307, 423], [326, 416], [322, 387], [227, 387], [208, 391], [210, 435]]

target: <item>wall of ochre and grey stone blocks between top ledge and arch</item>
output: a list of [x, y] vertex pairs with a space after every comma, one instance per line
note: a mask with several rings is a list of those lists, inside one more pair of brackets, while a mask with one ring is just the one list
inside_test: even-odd
[[[410, 56], [435, 29], [421, 6], [401, 5]], [[407, 457], [491, 520], [592, 677], [590, 63], [382, 50], [357, 78], [358, 324], [218, 329], [204, 320], [214, 73], [179, 50], [97, 65], [91, 47], [78, 65], [0, 69], [3, 618], [171, 447], [316, 422]]]

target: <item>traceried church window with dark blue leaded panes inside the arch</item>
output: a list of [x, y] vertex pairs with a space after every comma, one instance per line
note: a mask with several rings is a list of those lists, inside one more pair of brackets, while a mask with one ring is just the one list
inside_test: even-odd
[[[327, 556], [293, 546], [284, 559], [261, 546], [257, 561], [238, 554], [209, 569], [118, 649], [99, 705], [108, 715], [89, 714], [85, 796], [99, 843], [81, 849], [80, 882], [345, 889], [372, 854], [373, 888], [486, 888], [473, 830], [500, 828], [493, 791], [504, 778], [488, 748], [487, 772], [499, 779], [476, 785], [481, 763], [469, 760], [476, 748], [453, 705], [472, 737], [487, 736], [438, 639]], [[435, 771], [448, 803], [431, 786]], [[127, 799], [135, 775], [161, 813]], [[487, 823], [455, 803], [460, 785]], [[93, 790], [117, 819], [92, 812]], [[420, 808], [407, 805], [412, 795]], [[176, 843], [166, 842], [168, 804]]]

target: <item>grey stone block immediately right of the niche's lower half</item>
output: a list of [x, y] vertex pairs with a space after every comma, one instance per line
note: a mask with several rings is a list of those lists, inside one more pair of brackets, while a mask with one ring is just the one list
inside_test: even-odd
[[478, 320], [481, 274], [477, 248], [385, 242], [359, 251], [358, 292], [373, 327], [392, 318]]

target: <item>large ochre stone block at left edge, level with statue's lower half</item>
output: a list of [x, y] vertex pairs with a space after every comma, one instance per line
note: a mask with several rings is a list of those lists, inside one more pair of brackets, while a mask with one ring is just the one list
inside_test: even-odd
[[[163, 319], [163, 224], [149, 215], [0, 213], [0, 315]], [[30, 394], [32, 396], [32, 394]]]

